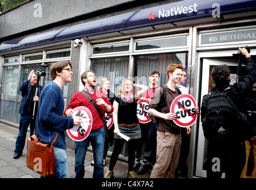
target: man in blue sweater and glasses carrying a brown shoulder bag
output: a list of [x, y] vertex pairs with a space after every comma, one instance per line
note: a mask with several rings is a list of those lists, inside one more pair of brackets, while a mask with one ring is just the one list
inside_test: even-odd
[[64, 97], [62, 87], [72, 80], [72, 65], [69, 61], [58, 61], [50, 65], [52, 82], [43, 88], [39, 99], [36, 136], [43, 143], [52, 143], [57, 132], [58, 137], [53, 146], [56, 171], [53, 178], [69, 178], [65, 131], [75, 125], [80, 125], [80, 118], [64, 116]]

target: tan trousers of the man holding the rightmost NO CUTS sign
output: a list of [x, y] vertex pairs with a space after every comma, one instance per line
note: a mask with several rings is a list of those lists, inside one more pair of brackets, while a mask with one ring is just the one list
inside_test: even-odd
[[181, 133], [157, 131], [157, 155], [150, 178], [175, 178], [181, 151]]

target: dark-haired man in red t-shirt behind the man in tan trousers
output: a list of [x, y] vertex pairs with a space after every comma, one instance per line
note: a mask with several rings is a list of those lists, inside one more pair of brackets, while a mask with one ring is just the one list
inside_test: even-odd
[[[135, 87], [138, 87], [142, 90], [137, 92], [137, 95], [140, 96], [141, 101], [149, 103], [154, 91], [159, 81], [160, 74], [158, 71], [152, 71], [150, 74], [150, 85], [134, 84]], [[156, 162], [156, 122], [150, 121], [147, 124], [140, 123], [141, 128], [141, 138], [142, 142], [139, 147], [136, 149], [136, 159], [134, 164], [134, 171], [137, 170], [138, 175], [143, 175], [147, 172], [148, 167], [153, 168], [153, 164]], [[140, 158], [143, 150], [143, 162], [140, 163]]]

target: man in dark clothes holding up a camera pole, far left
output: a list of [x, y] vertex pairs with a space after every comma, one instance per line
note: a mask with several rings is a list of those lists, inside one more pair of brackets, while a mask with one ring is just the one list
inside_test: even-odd
[[[20, 86], [21, 96], [23, 99], [20, 103], [20, 126], [19, 126], [19, 134], [16, 140], [15, 150], [14, 150], [14, 159], [18, 159], [23, 153], [27, 128], [30, 125], [30, 136], [33, 135], [34, 126], [36, 123], [36, 119], [33, 119], [33, 110], [34, 110], [34, 102], [39, 101], [39, 94], [42, 91], [42, 86], [39, 86], [39, 89], [36, 94], [36, 83], [37, 83], [37, 75], [34, 74], [34, 70], [32, 70], [29, 74], [29, 77], [26, 81], [23, 82]], [[36, 103], [37, 106], [37, 103]], [[35, 109], [37, 110], [37, 109]], [[34, 114], [36, 117], [36, 112]]]

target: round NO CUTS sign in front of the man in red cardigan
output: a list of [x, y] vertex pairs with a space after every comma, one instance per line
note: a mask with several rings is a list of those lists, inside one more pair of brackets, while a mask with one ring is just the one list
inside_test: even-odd
[[93, 126], [93, 116], [90, 110], [84, 106], [76, 107], [73, 111], [73, 115], [81, 117], [83, 123], [67, 129], [67, 134], [74, 141], [83, 141], [90, 134], [91, 127]]

